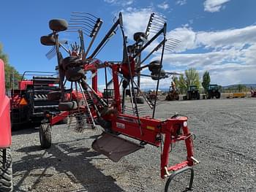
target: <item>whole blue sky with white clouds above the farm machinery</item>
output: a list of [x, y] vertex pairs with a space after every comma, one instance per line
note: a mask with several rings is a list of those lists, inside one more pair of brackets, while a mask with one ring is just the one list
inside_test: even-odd
[[[69, 20], [74, 11], [92, 13], [104, 21], [97, 38], [99, 42], [112, 26], [113, 18], [122, 12], [124, 28], [132, 43], [135, 32], [145, 31], [151, 12], [158, 12], [167, 18], [167, 37], [181, 40], [173, 53], [165, 53], [164, 69], [184, 72], [184, 69], [195, 67], [201, 76], [208, 70], [211, 82], [220, 85], [255, 83], [255, 7], [255, 0], [10, 0], [1, 2], [0, 42], [4, 45], [4, 53], [9, 55], [10, 64], [20, 73], [25, 70], [50, 72], [54, 71], [56, 58], [49, 61], [45, 53], [50, 47], [39, 42], [42, 35], [50, 33], [48, 20]], [[62, 33], [60, 37], [69, 42], [78, 41], [74, 34]], [[118, 31], [98, 58], [119, 61], [121, 57]], [[156, 58], [159, 53], [148, 62]], [[99, 85], [103, 82], [100, 80]], [[142, 87], [151, 85], [152, 81], [143, 77]], [[170, 79], [161, 82], [162, 88], [169, 85]]]

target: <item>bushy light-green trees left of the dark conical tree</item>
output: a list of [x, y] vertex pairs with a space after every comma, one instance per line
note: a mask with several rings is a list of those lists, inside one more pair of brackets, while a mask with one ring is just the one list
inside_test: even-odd
[[181, 93], [186, 93], [190, 85], [200, 87], [199, 72], [195, 68], [185, 70], [185, 74], [178, 78], [177, 87]]

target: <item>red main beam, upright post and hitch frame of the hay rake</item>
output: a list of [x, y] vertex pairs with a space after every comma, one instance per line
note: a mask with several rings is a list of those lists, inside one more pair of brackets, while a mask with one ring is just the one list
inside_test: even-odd
[[[165, 178], [170, 175], [170, 171], [177, 171], [185, 166], [193, 166], [193, 144], [192, 134], [187, 127], [187, 117], [175, 117], [168, 118], [161, 121], [148, 117], [141, 117], [140, 125], [138, 123], [138, 117], [134, 115], [126, 115], [121, 113], [121, 100], [119, 93], [119, 81], [118, 72], [127, 73], [127, 65], [114, 64], [110, 66], [113, 74], [113, 86], [114, 86], [114, 107], [118, 111], [116, 115], [108, 115], [106, 120], [111, 121], [111, 128], [120, 134], [124, 134], [127, 137], [138, 139], [142, 142], [159, 147], [161, 145], [161, 139], [164, 139], [163, 150], [161, 153], [161, 177]], [[187, 158], [179, 164], [169, 166], [170, 146], [174, 142], [184, 141], [187, 148]]]

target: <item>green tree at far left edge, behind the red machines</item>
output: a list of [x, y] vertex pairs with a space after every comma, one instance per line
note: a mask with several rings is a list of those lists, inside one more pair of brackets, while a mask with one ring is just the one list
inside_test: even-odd
[[[11, 87], [11, 77], [13, 76], [15, 80], [20, 80], [20, 74], [18, 71], [9, 64], [8, 55], [3, 52], [3, 46], [0, 43], [0, 58], [4, 61], [4, 73], [5, 73], [5, 87]], [[15, 87], [17, 87], [18, 81], [15, 82]]]

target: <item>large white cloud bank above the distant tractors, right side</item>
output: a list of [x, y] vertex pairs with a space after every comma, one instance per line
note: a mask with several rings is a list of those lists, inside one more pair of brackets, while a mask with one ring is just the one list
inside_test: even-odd
[[[193, 31], [176, 28], [168, 35], [183, 42], [176, 54], [165, 53], [164, 68], [187, 69], [195, 67], [203, 74], [208, 70], [211, 80], [220, 85], [255, 83], [256, 26], [227, 29], [224, 31]], [[189, 50], [197, 53], [184, 53]], [[201, 53], [198, 53], [198, 52]], [[159, 58], [159, 53], [152, 60]]]

